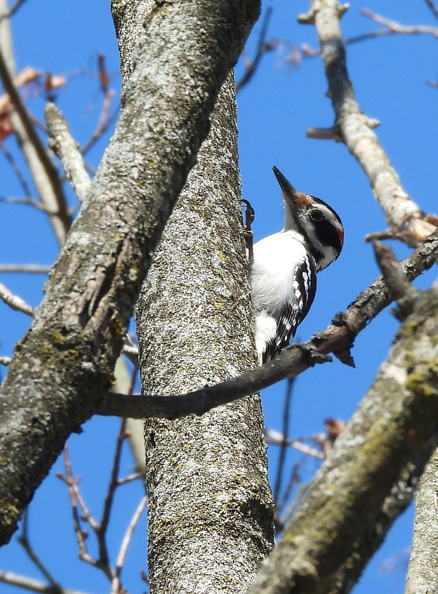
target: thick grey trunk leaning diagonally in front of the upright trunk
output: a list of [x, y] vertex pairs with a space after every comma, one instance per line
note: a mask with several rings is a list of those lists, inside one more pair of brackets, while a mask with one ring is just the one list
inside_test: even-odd
[[[111, 385], [151, 255], [260, 5], [183, 0], [113, 8], [128, 31], [131, 74], [88, 200], [2, 386], [0, 544], [68, 435]], [[134, 8], [143, 18], [125, 29]]]

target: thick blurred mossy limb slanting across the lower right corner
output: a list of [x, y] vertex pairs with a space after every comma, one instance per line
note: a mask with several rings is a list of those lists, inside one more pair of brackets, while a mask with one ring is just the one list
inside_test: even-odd
[[437, 334], [438, 292], [430, 289], [418, 293], [373, 386], [248, 594], [352, 589], [438, 444]]

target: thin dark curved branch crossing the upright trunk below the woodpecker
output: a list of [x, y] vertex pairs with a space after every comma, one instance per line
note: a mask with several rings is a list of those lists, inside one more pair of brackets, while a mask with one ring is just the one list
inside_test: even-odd
[[[433, 266], [437, 254], [438, 230], [400, 263], [409, 282]], [[94, 413], [167, 419], [191, 414], [202, 415], [207, 410], [247, 396], [277, 381], [296, 377], [317, 363], [330, 361], [331, 359], [326, 356], [327, 353], [342, 356], [342, 353], [349, 351], [358, 333], [393, 299], [382, 276], [379, 276], [357, 296], [344, 314], [336, 316], [333, 324], [327, 326], [322, 332], [314, 334], [308, 342], [288, 347], [273, 361], [263, 366], [216, 386], [207, 386], [178, 396], [139, 396], [111, 392], [96, 401]]]

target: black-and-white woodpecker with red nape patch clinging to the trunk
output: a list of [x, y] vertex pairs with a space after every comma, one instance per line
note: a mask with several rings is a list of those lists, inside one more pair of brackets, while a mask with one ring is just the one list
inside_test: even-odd
[[344, 227], [328, 204], [297, 192], [273, 168], [283, 191], [284, 229], [254, 244], [250, 262], [260, 362], [289, 344], [307, 315], [316, 292], [316, 273], [341, 253]]

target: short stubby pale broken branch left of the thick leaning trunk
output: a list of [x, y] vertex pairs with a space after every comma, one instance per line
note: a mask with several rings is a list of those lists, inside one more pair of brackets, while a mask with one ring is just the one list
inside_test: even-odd
[[78, 144], [70, 134], [64, 115], [54, 103], [46, 105], [45, 116], [47, 132], [50, 137], [49, 147], [61, 159], [65, 175], [67, 175], [73, 191], [78, 200], [83, 202], [90, 187], [90, 178], [85, 169], [84, 159], [78, 150]]

